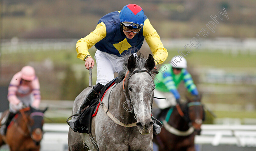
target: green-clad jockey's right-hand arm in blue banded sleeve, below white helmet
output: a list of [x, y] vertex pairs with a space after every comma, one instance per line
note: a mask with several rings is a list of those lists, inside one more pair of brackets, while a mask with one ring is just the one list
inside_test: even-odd
[[192, 95], [198, 95], [198, 91], [197, 91], [197, 87], [194, 84], [194, 81], [190, 75], [190, 73], [188, 73], [187, 69], [183, 70], [183, 80], [184, 80], [184, 84], [185, 87], [187, 88], [187, 91], [189, 91]]

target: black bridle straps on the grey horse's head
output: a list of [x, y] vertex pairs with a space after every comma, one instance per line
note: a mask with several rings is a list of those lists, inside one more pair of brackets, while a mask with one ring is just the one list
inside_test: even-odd
[[[150, 75], [150, 77], [151, 77], [151, 73], [148, 72], [148, 70], [135, 70], [132, 74], [130, 74], [130, 76], [129, 76], [129, 78], [128, 78], [127, 81], [130, 80], [131, 76], [133, 76], [134, 74], [139, 73], [139, 72], [146, 72], [146, 73], [148, 73], [148, 74]], [[128, 73], [129, 73], [129, 71], [126, 73], [126, 75], [125, 75], [125, 77], [124, 77], [124, 80], [123, 80], [123, 92], [124, 92], [124, 96], [125, 96], [125, 99], [126, 99], [126, 104], [128, 105], [129, 111], [134, 114], [134, 118], [137, 120], [137, 115], [136, 115], [136, 113], [134, 112], [132, 102], [131, 102], [130, 99], [128, 99], [128, 97], [127, 97], [127, 95], [126, 95], [126, 93], [125, 93], [124, 82], [125, 82], [125, 79], [126, 79]], [[129, 90], [129, 89], [128, 89], [128, 96], [129, 96], [129, 98], [130, 98], [130, 90]]]

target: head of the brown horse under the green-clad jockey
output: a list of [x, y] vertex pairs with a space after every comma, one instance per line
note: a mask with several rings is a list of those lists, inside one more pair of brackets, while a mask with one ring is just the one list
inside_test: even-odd
[[185, 116], [195, 129], [196, 135], [201, 133], [201, 125], [205, 120], [204, 107], [201, 103], [201, 96], [194, 100], [188, 99], [187, 113]]

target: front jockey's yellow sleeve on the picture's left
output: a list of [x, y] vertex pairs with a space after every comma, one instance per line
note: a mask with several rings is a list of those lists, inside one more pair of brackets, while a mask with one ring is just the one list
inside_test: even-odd
[[84, 38], [81, 38], [76, 43], [77, 58], [86, 60], [87, 57], [91, 57], [88, 49], [101, 41], [107, 35], [106, 26], [103, 22], [96, 26], [96, 29]]

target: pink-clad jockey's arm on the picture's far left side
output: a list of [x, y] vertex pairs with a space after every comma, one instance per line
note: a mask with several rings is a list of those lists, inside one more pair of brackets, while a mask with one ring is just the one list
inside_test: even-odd
[[10, 102], [10, 104], [12, 104], [12, 105], [17, 105], [20, 103], [20, 100], [16, 96], [16, 92], [18, 91], [18, 85], [20, 84], [20, 80], [21, 80], [20, 75], [21, 75], [20, 72], [16, 73], [12, 77], [12, 80], [8, 87], [7, 99]]

